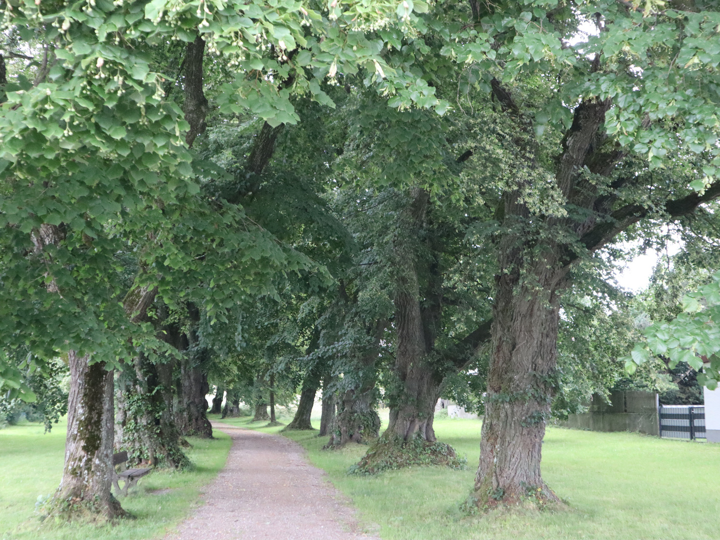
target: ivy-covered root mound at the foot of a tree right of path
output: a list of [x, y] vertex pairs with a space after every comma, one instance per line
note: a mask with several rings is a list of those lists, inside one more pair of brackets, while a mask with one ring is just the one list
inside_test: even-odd
[[430, 442], [420, 437], [403, 441], [382, 436], [371, 445], [357, 465], [350, 467], [348, 472], [356, 475], [374, 475], [385, 470], [427, 465], [464, 469], [467, 467], [467, 458], [457, 457], [455, 449], [444, 442]]

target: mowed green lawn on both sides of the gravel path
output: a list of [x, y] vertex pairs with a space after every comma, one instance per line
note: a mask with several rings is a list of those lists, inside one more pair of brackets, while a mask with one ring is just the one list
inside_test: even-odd
[[[313, 422], [318, 425], [317, 418]], [[281, 429], [263, 428], [265, 422], [249, 424], [249, 418], [230, 418], [228, 423]], [[468, 470], [426, 467], [375, 477], [346, 475], [364, 446], [323, 451], [327, 439], [316, 431], [287, 435], [307, 448], [311, 462], [326, 470], [358, 508], [361, 525], [383, 539], [720, 539], [720, 444], [628, 433], [548, 429], [544, 476], [568, 501], [568, 510], [463, 516], [458, 508], [472, 487], [480, 426], [476, 420], [436, 420], [438, 438], [467, 454]], [[153, 472], [122, 499], [138, 519], [99, 528], [37, 528], [35, 500], [53, 492], [62, 472], [64, 426], [53, 427], [52, 434], [42, 434], [37, 424], [2, 429], [0, 539], [162, 538], [224, 464], [230, 441], [217, 430], [216, 436], [214, 441], [191, 439], [196, 470]]]

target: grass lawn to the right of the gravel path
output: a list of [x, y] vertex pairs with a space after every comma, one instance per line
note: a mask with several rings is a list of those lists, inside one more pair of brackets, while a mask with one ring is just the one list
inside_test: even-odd
[[[248, 421], [228, 419], [241, 426]], [[346, 475], [366, 447], [328, 452], [317, 432], [287, 436], [307, 449], [313, 465], [351, 498], [361, 523], [382, 539], [720, 539], [720, 444], [630, 433], [547, 430], [543, 475], [569, 510], [464, 517], [458, 505], [474, 480], [480, 426], [477, 420], [435, 422], [438, 439], [467, 454], [466, 471], [426, 467], [375, 477]]]

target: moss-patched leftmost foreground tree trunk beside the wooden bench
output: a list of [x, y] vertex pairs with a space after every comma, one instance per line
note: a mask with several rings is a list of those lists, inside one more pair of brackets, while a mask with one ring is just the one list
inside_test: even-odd
[[112, 496], [113, 372], [104, 362], [89, 365], [89, 356], [68, 352], [70, 395], [65, 467], [50, 503], [51, 514], [124, 516]]

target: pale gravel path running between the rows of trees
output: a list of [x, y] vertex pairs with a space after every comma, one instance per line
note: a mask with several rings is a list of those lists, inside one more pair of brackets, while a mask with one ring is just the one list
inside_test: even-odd
[[213, 423], [233, 439], [228, 462], [204, 491], [205, 504], [166, 540], [374, 539], [354, 511], [284, 436]]

